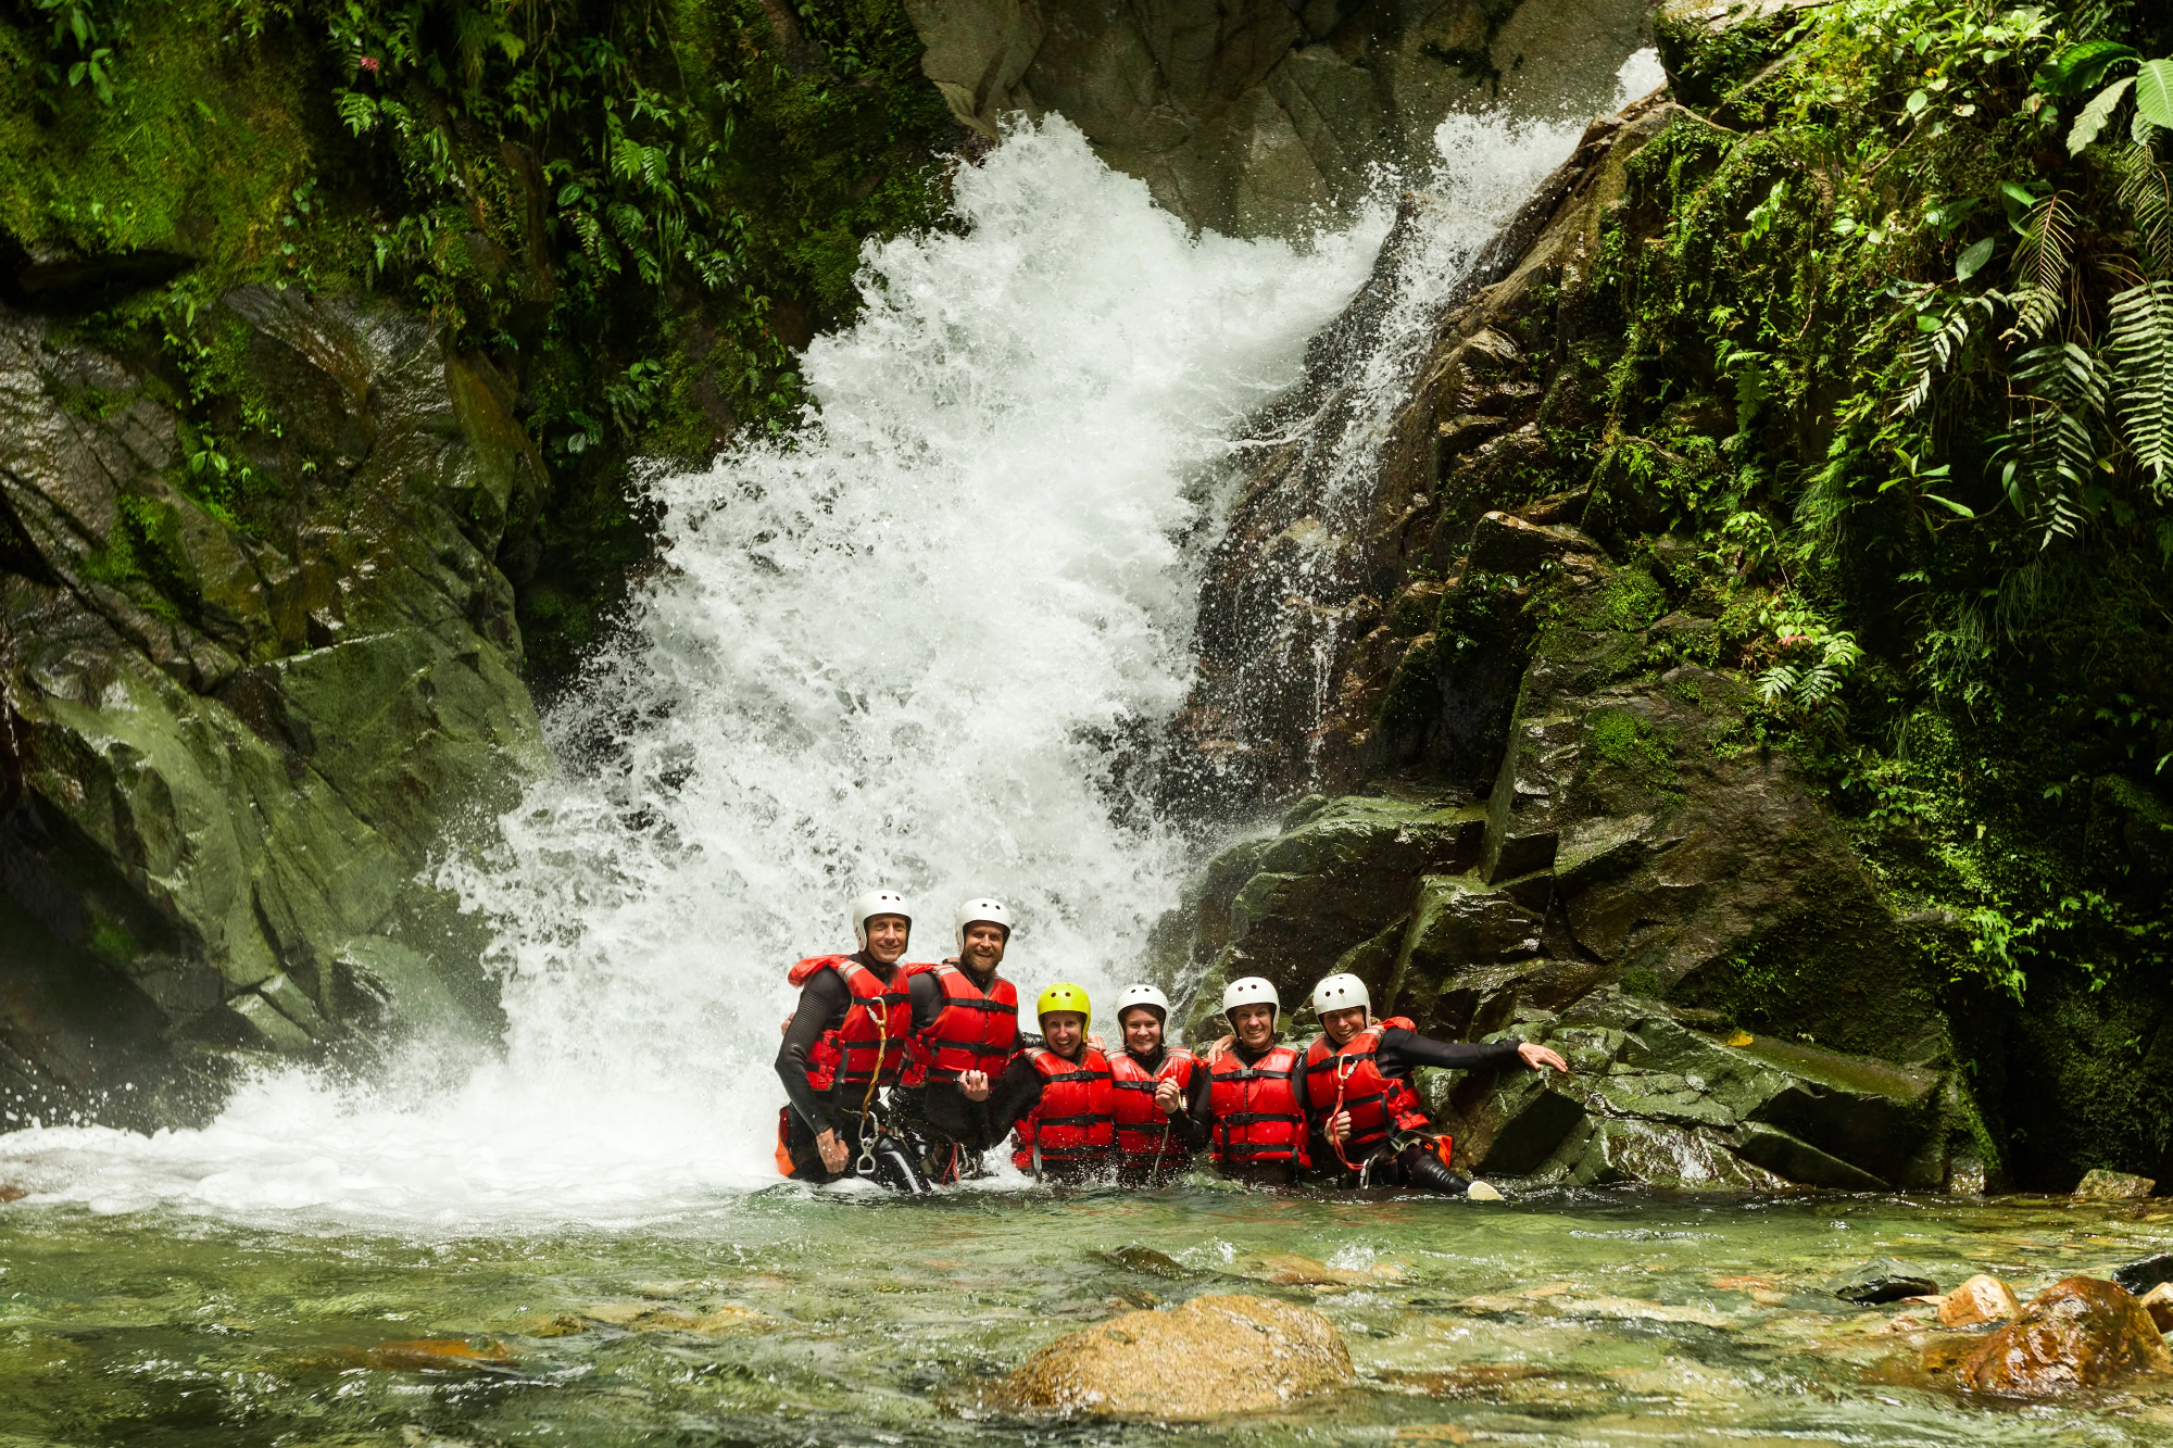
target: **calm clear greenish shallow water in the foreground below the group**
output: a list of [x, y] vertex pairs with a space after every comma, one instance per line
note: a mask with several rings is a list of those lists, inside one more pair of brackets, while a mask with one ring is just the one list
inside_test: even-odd
[[[2169, 1248], [2173, 1213], [2043, 1198], [778, 1187], [515, 1235], [17, 1202], [0, 1441], [2166, 1444], [2173, 1381], [1967, 1402], [1923, 1378], [1919, 1339], [1877, 1331], [1908, 1309], [1819, 1283], [1891, 1254], [2027, 1296]], [[1208, 1426], [1004, 1407], [1045, 1341], [1204, 1291], [1317, 1307], [1358, 1383]]]

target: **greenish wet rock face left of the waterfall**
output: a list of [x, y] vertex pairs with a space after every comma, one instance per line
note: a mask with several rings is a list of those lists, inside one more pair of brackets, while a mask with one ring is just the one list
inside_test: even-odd
[[543, 759], [498, 567], [541, 459], [409, 313], [222, 307], [250, 452], [0, 313], [0, 1124], [183, 1120], [185, 1059], [491, 1009], [415, 876]]

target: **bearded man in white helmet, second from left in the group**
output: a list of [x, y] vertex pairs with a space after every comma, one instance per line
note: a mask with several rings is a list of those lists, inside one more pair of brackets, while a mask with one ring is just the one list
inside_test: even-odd
[[980, 1174], [989, 1078], [1019, 1048], [1019, 991], [997, 976], [1010, 944], [1000, 900], [967, 900], [956, 920], [958, 954], [913, 970], [913, 1050], [893, 1100], [921, 1144], [932, 1181]]

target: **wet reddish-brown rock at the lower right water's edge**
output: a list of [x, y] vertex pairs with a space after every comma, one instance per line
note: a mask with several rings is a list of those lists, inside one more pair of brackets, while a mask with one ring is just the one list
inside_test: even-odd
[[1962, 1363], [1958, 1381], [1980, 1394], [2043, 1398], [2130, 1372], [2173, 1372], [2173, 1352], [2151, 1315], [2117, 1283], [2071, 1276], [1993, 1333]]

